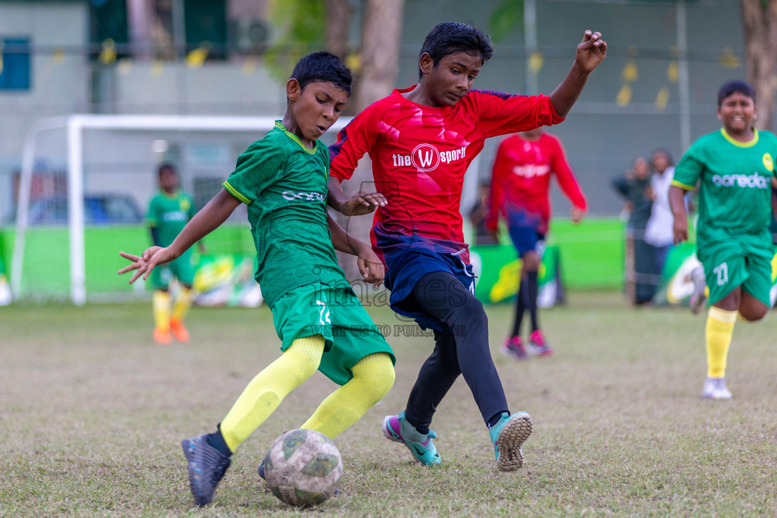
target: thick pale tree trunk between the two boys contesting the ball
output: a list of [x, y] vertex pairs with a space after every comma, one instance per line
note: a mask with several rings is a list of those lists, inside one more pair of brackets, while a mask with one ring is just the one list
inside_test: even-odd
[[[399, 38], [402, 35], [402, 9], [404, 0], [365, 0], [364, 17], [361, 23], [361, 71], [357, 75], [356, 92], [349, 105], [359, 113], [378, 99], [388, 96], [395, 86], [399, 71]], [[359, 161], [354, 176], [343, 182], [347, 194], [359, 190], [374, 192], [380, 190], [372, 179], [372, 162], [365, 156]], [[338, 224], [350, 235], [363, 242], [370, 242], [372, 215], [344, 217], [336, 214]], [[361, 280], [354, 256], [338, 253], [340, 266], [347, 280]], [[369, 290], [356, 290], [367, 294]]]

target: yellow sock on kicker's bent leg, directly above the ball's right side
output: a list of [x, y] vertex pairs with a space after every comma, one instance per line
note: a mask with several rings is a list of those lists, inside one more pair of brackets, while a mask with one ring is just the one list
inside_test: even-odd
[[394, 384], [394, 365], [386, 353], [364, 356], [351, 372], [354, 377], [330, 394], [300, 428], [336, 437], [361, 419]]

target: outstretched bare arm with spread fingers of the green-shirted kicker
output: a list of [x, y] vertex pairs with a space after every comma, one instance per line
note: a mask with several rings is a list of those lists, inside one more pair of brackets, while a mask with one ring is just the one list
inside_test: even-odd
[[226, 189], [221, 189], [213, 197], [213, 200], [207, 202], [207, 205], [194, 215], [178, 237], [176, 237], [175, 241], [168, 247], [152, 246], [143, 252], [140, 257], [133, 256], [127, 252], [119, 252], [120, 256], [132, 261], [130, 266], [120, 269], [119, 273], [127, 273], [132, 269], [137, 269], [138, 271], [132, 276], [130, 283], [138, 280], [138, 277], [143, 273], [145, 273], [143, 279], [148, 279], [148, 274], [152, 272], [155, 266], [180, 257], [191, 245], [200, 241], [200, 239], [224, 223], [240, 203], [240, 200], [228, 193]]

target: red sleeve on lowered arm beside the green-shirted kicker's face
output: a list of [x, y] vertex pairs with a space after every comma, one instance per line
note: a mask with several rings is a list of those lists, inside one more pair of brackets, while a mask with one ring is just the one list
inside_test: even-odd
[[347, 123], [337, 134], [337, 142], [329, 146], [329, 176], [340, 182], [350, 179], [359, 159], [375, 144], [377, 131], [371, 114], [375, 113], [376, 104], [368, 106]]

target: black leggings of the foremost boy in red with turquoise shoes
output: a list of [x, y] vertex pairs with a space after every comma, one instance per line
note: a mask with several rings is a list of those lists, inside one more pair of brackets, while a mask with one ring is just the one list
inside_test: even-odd
[[437, 405], [459, 374], [464, 375], [486, 424], [508, 412], [502, 382], [491, 359], [483, 304], [449, 272], [427, 273], [413, 289], [413, 297], [423, 311], [439, 318], [454, 334], [434, 331], [434, 352], [423, 363], [410, 391], [407, 421], [420, 433], [427, 433]]

